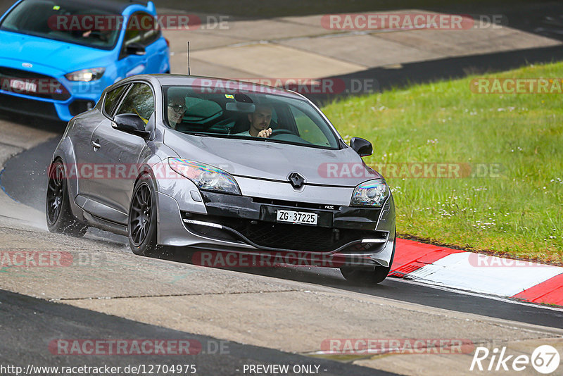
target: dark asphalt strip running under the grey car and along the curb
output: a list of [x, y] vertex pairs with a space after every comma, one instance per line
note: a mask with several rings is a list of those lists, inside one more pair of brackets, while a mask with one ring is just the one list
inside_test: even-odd
[[[44, 211], [46, 171], [57, 144], [58, 138], [53, 138], [49, 142], [24, 151], [8, 161], [4, 167], [4, 172], [0, 176], [2, 189], [12, 199], [27, 206], [32, 206], [39, 211]], [[111, 239], [122, 244], [127, 243], [127, 238], [125, 237], [96, 229], [90, 229], [87, 236]], [[184, 256], [184, 253], [179, 256], [171, 256], [170, 259], [180, 263], [190, 262], [189, 256]], [[241, 271], [240, 269], [238, 270]], [[245, 271], [285, 280], [346, 289], [424, 306], [475, 313], [546, 327], [563, 328], [563, 310], [508, 300], [491, 299], [491, 297], [479, 296], [477, 294], [464, 294], [464, 292], [437, 289], [395, 278], [388, 278], [374, 287], [362, 287], [346, 282], [343, 280], [339, 270], [332, 268], [249, 268]]]

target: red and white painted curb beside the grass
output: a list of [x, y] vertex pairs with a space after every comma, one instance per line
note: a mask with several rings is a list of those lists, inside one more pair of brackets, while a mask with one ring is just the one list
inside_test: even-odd
[[397, 239], [391, 277], [563, 306], [563, 268]]

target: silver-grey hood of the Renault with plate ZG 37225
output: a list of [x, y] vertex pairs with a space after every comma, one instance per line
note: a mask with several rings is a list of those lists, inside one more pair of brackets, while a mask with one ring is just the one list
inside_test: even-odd
[[180, 158], [213, 165], [234, 176], [284, 181], [295, 172], [309, 184], [355, 187], [381, 175], [363, 163], [351, 148], [317, 149], [307, 146], [165, 133], [164, 143]]

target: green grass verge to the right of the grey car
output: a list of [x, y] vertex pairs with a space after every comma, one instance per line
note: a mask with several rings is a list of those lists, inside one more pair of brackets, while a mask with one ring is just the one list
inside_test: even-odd
[[[563, 77], [563, 63], [485, 77]], [[388, 178], [403, 236], [561, 264], [563, 94], [474, 94], [472, 78], [355, 97], [323, 111], [345, 138], [374, 144], [368, 165], [502, 165], [498, 177]]]

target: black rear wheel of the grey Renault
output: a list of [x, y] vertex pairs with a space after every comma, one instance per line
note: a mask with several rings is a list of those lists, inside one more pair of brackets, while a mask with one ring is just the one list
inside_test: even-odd
[[45, 216], [50, 232], [83, 237], [88, 230], [86, 223], [80, 222], [72, 215], [65, 166], [60, 160], [49, 167]]

